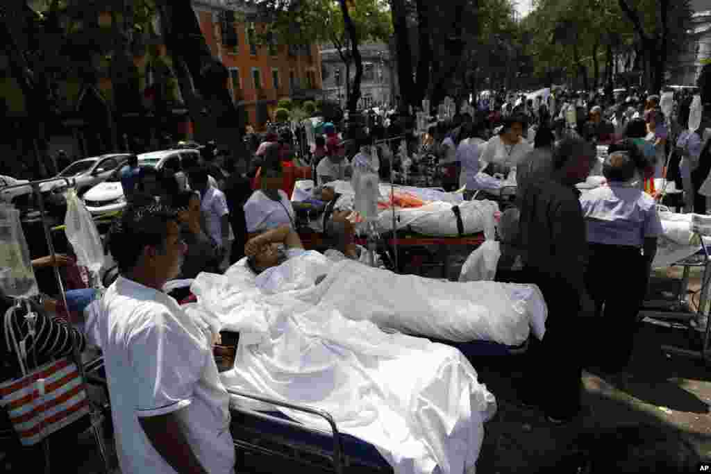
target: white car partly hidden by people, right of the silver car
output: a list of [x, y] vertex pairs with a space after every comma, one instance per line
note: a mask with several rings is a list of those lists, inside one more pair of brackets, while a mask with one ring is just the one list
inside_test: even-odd
[[[158, 170], [171, 160], [181, 163], [186, 156], [194, 156], [200, 160], [200, 152], [195, 149], [151, 151], [138, 156], [138, 166], [152, 166]], [[84, 194], [84, 204], [91, 215], [102, 215], [115, 212], [126, 207], [126, 197], [121, 186], [121, 168], [117, 168], [109, 178], [95, 185]]]

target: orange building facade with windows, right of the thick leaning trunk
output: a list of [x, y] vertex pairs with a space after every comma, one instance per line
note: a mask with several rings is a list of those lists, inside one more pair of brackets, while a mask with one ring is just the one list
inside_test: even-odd
[[[193, 1], [210, 50], [230, 72], [232, 97], [236, 103], [244, 104], [255, 129], [262, 129], [267, 120], [274, 118], [279, 99], [321, 98], [318, 45], [258, 44], [262, 26], [250, 21], [250, 5], [234, 7], [239, 12], [225, 8], [219, 0]], [[235, 21], [235, 16], [241, 21]], [[235, 27], [234, 36], [228, 31], [230, 25]]]

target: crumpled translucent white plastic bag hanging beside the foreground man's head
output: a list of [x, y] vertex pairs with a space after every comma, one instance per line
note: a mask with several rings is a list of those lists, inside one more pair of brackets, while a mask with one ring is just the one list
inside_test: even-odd
[[80, 265], [85, 266], [94, 274], [99, 274], [99, 270], [104, 264], [104, 246], [99, 236], [91, 214], [84, 203], [77, 196], [74, 189], [70, 189], [65, 194], [67, 198], [67, 214], [64, 218], [67, 239]]

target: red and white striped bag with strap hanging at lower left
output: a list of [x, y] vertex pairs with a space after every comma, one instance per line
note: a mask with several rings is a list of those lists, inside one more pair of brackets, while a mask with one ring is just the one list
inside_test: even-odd
[[10, 335], [22, 377], [0, 383], [0, 406], [23, 446], [32, 446], [90, 413], [89, 399], [75, 362], [68, 357], [28, 370], [23, 358], [23, 341], [7, 330], [10, 310], [5, 315], [6, 335]]

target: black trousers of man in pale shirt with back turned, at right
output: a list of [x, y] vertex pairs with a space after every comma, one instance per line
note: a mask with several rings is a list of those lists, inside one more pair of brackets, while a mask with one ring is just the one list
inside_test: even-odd
[[585, 284], [597, 313], [594, 339], [604, 341], [592, 362], [611, 370], [627, 365], [648, 281], [646, 260], [639, 249], [589, 245]]

